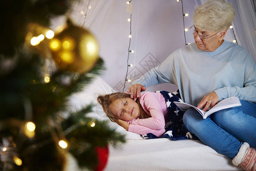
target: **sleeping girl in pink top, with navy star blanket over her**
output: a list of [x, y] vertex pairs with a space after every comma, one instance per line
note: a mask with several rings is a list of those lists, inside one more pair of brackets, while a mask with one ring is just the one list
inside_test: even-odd
[[182, 123], [184, 112], [173, 103], [182, 100], [174, 93], [144, 92], [134, 101], [127, 93], [116, 92], [100, 95], [97, 101], [111, 121], [129, 132], [161, 137], [171, 126], [170, 139], [188, 139], [188, 131]]

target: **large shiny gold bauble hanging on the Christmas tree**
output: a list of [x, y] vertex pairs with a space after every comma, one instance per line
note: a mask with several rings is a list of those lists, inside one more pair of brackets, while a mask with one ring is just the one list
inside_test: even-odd
[[83, 74], [99, 58], [99, 44], [90, 31], [67, 22], [67, 27], [49, 42], [52, 58], [59, 70]]

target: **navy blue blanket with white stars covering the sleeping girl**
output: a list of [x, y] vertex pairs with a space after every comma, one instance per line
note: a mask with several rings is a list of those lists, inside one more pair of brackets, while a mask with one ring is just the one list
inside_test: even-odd
[[160, 92], [165, 98], [168, 109], [168, 123], [165, 125], [165, 133], [161, 137], [157, 137], [156, 135], [153, 135], [153, 133], [147, 133], [145, 135], [142, 135], [143, 139], [168, 138], [170, 140], [197, 140], [197, 137], [185, 128], [185, 125], [182, 121], [184, 111], [180, 111], [177, 105], [173, 103], [173, 101], [182, 102], [182, 100], [180, 99], [180, 92], [178, 90], [176, 92], [156, 92]]

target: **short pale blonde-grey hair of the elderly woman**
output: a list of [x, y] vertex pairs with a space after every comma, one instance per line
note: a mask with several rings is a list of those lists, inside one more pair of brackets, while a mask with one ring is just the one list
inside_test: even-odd
[[200, 30], [228, 30], [234, 20], [233, 5], [224, 0], [209, 0], [194, 11], [194, 26]]

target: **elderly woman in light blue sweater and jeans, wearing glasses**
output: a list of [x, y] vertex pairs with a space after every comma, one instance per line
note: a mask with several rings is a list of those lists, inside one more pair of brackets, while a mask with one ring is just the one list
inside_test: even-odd
[[[234, 19], [231, 3], [207, 1], [194, 12], [194, 43], [168, 56], [135, 80], [127, 93], [136, 99], [146, 87], [173, 83], [181, 99], [203, 108], [236, 96], [240, 107], [213, 113], [207, 119], [194, 109], [185, 112], [186, 128], [203, 143], [232, 158], [235, 166], [256, 170], [256, 66], [245, 48], [224, 40]], [[249, 145], [250, 144], [250, 145]]]

